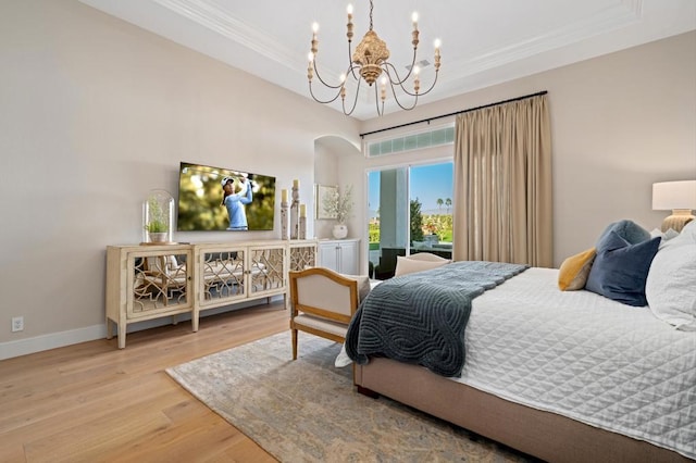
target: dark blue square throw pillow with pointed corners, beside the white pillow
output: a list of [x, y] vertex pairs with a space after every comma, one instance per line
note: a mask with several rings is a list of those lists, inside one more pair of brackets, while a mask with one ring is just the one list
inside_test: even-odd
[[602, 251], [592, 264], [585, 289], [624, 304], [647, 305], [645, 281], [660, 237], [630, 243], [614, 230], [602, 240]]

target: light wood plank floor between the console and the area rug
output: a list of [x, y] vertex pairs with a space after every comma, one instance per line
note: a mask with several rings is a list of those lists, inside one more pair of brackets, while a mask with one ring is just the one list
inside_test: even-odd
[[[288, 329], [282, 302], [0, 362], [0, 462], [273, 462], [164, 368]], [[288, 349], [289, 336], [288, 336]]]

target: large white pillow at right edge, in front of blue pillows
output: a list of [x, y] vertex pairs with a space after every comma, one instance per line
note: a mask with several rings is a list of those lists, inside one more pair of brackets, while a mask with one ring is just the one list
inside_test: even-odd
[[645, 296], [655, 316], [678, 329], [696, 330], [696, 227], [695, 233], [684, 230], [655, 254]]

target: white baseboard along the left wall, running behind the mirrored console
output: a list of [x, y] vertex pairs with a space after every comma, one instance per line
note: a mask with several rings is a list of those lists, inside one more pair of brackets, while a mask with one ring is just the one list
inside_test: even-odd
[[[283, 297], [272, 297], [272, 301], [277, 301]], [[200, 313], [200, 316], [215, 315], [232, 310], [244, 309], [253, 305], [260, 305], [264, 302], [249, 301], [235, 305], [227, 305], [217, 309], [207, 310]], [[190, 321], [190, 314], [182, 314], [176, 317], [177, 323]], [[171, 317], [149, 320], [135, 325], [128, 325], [127, 333], [139, 331], [142, 329], [154, 328], [157, 326], [171, 325]], [[104, 339], [107, 337], [107, 325], [86, 326], [84, 328], [71, 329], [67, 331], [51, 333], [48, 335], [37, 336], [35, 338], [20, 339], [16, 341], [0, 342], [0, 360], [12, 359], [14, 356], [27, 355], [30, 353], [41, 352], [45, 350], [57, 349], [65, 346], [76, 345], [79, 342], [94, 341]]]

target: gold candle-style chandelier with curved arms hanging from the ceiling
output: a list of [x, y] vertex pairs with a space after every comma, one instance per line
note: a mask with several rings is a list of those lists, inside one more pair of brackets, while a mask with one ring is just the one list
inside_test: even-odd
[[[411, 60], [411, 64], [408, 66], [408, 73], [403, 78], [399, 76], [396, 67], [387, 61], [389, 59], [389, 50], [387, 49], [387, 45], [382, 40], [377, 33], [373, 30], [372, 27], [372, 0], [370, 0], [370, 29], [364, 35], [356, 51], [351, 51], [352, 46], [352, 5], [348, 5], [348, 70], [345, 74], [341, 74], [339, 83], [337, 85], [332, 85], [326, 83], [321, 75], [319, 74], [319, 70], [316, 68], [316, 53], [319, 51], [319, 40], [316, 39], [316, 32], [319, 30], [319, 25], [314, 23], [312, 25], [312, 51], [309, 53], [309, 66], [307, 67], [307, 78], [309, 79], [309, 91], [312, 98], [320, 103], [332, 103], [338, 97], [340, 97], [343, 102], [344, 114], [350, 115], [356, 109], [358, 103], [358, 95], [360, 93], [360, 85], [364, 80], [368, 86], [374, 87], [374, 100], [377, 109], [377, 115], [384, 114], [384, 102], [387, 98], [387, 85], [388, 88], [391, 89], [391, 95], [394, 95], [394, 100], [396, 103], [406, 111], [412, 110], [415, 108], [418, 103], [418, 98], [421, 95], [426, 95], [434, 87], [435, 83], [437, 83], [437, 75], [439, 72], [439, 40], [435, 40], [435, 79], [430, 88], [425, 91], [421, 91], [421, 80], [419, 78], [420, 66], [415, 64], [415, 55], [418, 52], [418, 13], [413, 13], [411, 20], [413, 22], [413, 32], [411, 33], [411, 45], [413, 46], [413, 59]], [[316, 75], [319, 80], [327, 88], [335, 91], [333, 98], [327, 100], [321, 100], [316, 98], [314, 91], [312, 89], [312, 78]], [[405, 84], [409, 80], [409, 78], [413, 75], [413, 90], [409, 90]], [[353, 97], [352, 104], [349, 103], [350, 108], [346, 107], [346, 82], [348, 77], [352, 77], [355, 82], [357, 82], [356, 95]], [[380, 80], [378, 89], [377, 85], [374, 85], [375, 82]], [[397, 96], [397, 88], [400, 89], [403, 93], [409, 97], [413, 97], [411, 105], [405, 105], [399, 101], [399, 97]], [[403, 97], [402, 97], [403, 98]]]

